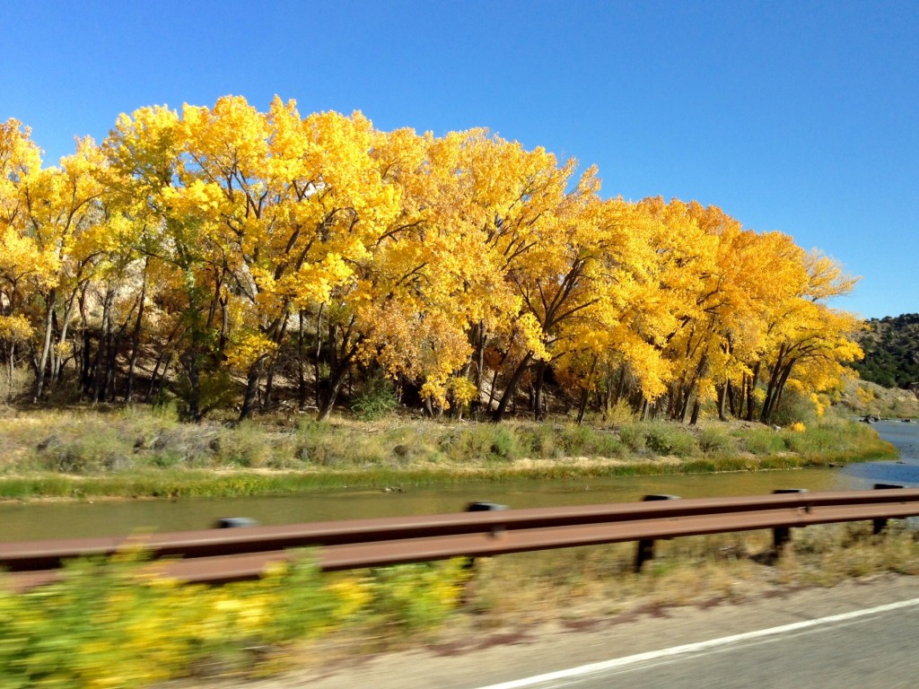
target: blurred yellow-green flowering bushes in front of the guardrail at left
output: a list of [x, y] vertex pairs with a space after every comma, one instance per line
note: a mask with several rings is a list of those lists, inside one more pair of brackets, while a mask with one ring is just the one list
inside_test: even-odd
[[130, 555], [79, 560], [28, 593], [0, 580], [0, 687], [127, 689], [205, 669], [251, 672], [270, 660], [265, 649], [340, 627], [435, 627], [467, 577], [461, 560], [323, 574], [300, 558], [258, 581], [209, 587], [147, 567]]

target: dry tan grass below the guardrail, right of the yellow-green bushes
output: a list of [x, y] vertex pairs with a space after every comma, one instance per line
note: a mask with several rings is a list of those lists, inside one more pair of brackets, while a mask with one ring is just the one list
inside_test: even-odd
[[919, 574], [917, 535], [902, 525], [879, 537], [864, 523], [795, 529], [781, 557], [772, 550], [771, 531], [659, 541], [640, 574], [633, 571], [635, 548], [625, 543], [480, 560], [467, 622], [516, 626], [736, 601], [883, 572]]

